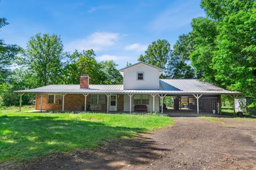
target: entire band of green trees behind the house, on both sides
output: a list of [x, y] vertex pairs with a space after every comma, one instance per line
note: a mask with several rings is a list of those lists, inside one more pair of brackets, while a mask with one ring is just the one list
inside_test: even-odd
[[[163, 68], [162, 78], [198, 78], [227, 90], [256, 96], [256, 2], [202, 0], [206, 17], [194, 18], [192, 30], [171, 47], [165, 39], [151, 43], [139, 56]], [[0, 19], [0, 28], [5, 26]], [[167, 37], [166, 37], [167, 39]], [[37, 34], [25, 49], [0, 40], [0, 104], [18, 103], [12, 91], [49, 84], [78, 84], [89, 74], [92, 84], [120, 84], [114, 61], [97, 62], [94, 51], [63, 51], [60, 36]], [[129, 64], [129, 63], [127, 63]], [[32, 95], [25, 95], [29, 103]]]

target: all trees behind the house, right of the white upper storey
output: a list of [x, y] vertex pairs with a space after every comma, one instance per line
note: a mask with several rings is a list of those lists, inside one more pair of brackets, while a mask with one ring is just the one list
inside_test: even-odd
[[172, 50], [158, 40], [139, 60], [164, 68], [163, 77], [199, 78], [243, 92], [255, 109], [256, 2], [202, 0], [201, 7], [206, 17], [194, 18], [192, 30], [180, 35]]

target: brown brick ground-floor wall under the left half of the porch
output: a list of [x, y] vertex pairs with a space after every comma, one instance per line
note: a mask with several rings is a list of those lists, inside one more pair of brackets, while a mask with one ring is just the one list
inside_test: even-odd
[[[62, 110], [62, 98], [59, 104], [47, 103], [48, 94], [43, 95], [43, 110]], [[87, 95], [86, 106], [89, 106], [91, 103], [91, 95]], [[41, 95], [36, 94], [36, 110], [40, 110], [41, 107]], [[83, 94], [66, 94], [65, 95], [65, 104], [64, 110], [67, 111], [84, 111], [84, 95]], [[124, 110], [124, 95], [119, 94], [117, 98], [117, 110]], [[105, 104], [102, 104], [102, 110], [107, 111], [107, 96], [105, 95]]]

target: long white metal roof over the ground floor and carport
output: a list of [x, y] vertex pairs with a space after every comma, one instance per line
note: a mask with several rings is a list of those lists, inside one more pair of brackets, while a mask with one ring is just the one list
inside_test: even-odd
[[157, 90], [124, 90], [123, 85], [89, 85], [89, 88], [80, 88], [80, 85], [48, 85], [14, 93], [241, 94], [196, 79], [160, 79], [159, 83], [160, 88]]

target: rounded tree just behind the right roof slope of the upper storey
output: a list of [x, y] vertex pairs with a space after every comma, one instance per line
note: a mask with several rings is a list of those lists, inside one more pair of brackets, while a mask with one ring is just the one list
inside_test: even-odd
[[158, 39], [148, 46], [145, 55], [140, 55], [138, 61], [143, 61], [153, 66], [165, 69], [171, 55], [171, 45], [165, 39]]

